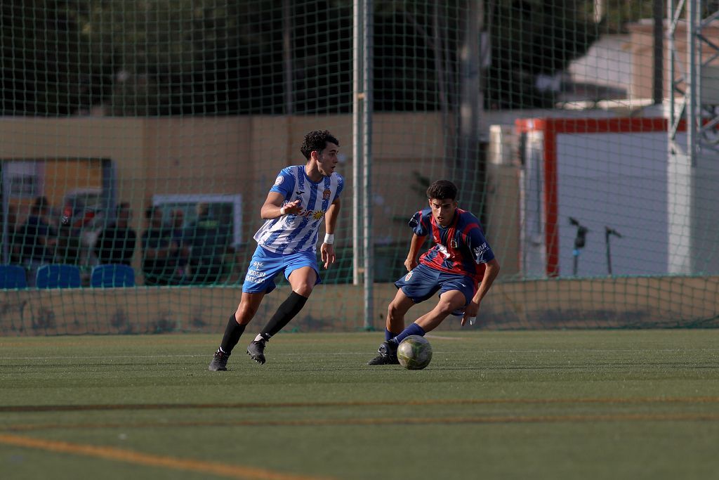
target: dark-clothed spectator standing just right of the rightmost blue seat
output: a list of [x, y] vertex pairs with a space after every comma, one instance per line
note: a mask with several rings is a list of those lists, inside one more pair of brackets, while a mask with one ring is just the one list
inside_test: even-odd
[[145, 285], [169, 285], [175, 276], [178, 244], [170, 229], [162, 225], [162, 209], [147, 207], [147, 230], [142, 234], [142, 273]]

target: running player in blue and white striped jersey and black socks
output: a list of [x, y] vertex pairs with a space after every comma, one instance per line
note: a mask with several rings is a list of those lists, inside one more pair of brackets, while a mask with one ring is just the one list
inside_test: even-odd
[[227, 369], [232, 349], [257, 313], [262, 298], [275, 289], [273, 279], [283, 272], [292, 288], [290, 296], [247, 347], [252, 360], [265, 363], [267, 341], [300, 312], [321, 281], [316, 249], [323, 219], [325, 235], [320, 252], [324, 268], [335, 261], [334, 229], [344, 186], [344, 179], [334, 171], [339, 141], [327, 130], [315, 130], [305, 135], [300, 151], [307, 163], [283, 168], [262, 205], [260, 215], [265, 223], [255, 234], [257, 250], [244, 277], [242, 299], [229, 317], [222, 342], [208, 367], [211, 371]]

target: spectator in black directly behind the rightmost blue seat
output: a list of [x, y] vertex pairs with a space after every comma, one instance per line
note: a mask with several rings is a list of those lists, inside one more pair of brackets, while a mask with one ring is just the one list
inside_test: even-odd
[[115, 221], [100, 232], [95, 242], [95, 255], [100, 263], [122, 263], [132, 266], [137, 233], [130, 227], [132, 209], [123, 201], [117, 205]]

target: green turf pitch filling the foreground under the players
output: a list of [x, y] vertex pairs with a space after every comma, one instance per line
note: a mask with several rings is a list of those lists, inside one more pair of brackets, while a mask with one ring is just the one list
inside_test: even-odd
[[251, 336], [227, 372], [206, 371], [217, 335], [0, 338], [0, 478], [705, 479], [719, 468], [718, 330], [438, 332], [423, 371], [366, 366], [377, 333], [282, 333], [264, 366], [244, 354]]

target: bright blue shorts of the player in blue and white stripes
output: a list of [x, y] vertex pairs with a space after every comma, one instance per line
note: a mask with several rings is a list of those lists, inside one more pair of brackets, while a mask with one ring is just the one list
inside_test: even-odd
[[321, 283], [317, 255], [313, 250], [299, 253], [275, 253], [257, 245], [257, 250], [252, 254], [252, 260], [247, 266], [242, 291], [246, 294], [262, 292], [269, 294], [275, 289], [274, 279], [280, 271], [284, 271], [285, 279], [289, 279], [290, 273], [302, 267], [312, 267], [317, 273], [315, 285]]

